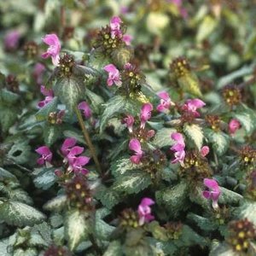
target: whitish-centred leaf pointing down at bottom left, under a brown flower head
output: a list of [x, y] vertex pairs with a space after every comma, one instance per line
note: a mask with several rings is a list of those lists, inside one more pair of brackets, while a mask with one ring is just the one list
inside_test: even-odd
[[68, 247], [73, 251], [79, 243], [86, 239], [91, 231], [89, 219], [86, 219], [84, 212], [73, 210], [67, 212], [65, 219], [65, 234]]

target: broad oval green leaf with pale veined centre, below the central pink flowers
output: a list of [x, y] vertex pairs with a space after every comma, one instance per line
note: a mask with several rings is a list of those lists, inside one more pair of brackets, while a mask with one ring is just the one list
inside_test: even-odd
[[147, 172], [134, 170], [119, 176], [113, 183], [113, 189], [127, 194], [134, 194], [146, 189], [150, 183], [151, 179]]

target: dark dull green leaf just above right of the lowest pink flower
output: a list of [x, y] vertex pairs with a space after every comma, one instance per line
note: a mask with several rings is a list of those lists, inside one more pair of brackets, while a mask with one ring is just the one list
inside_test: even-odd
[[156, 192], [157, 203], [167, 207], [171, 216], [177, 216], [178, 212], [185, 209], [186, 198], [188, 194], [188, 186], [184, 181], [176, 186]]

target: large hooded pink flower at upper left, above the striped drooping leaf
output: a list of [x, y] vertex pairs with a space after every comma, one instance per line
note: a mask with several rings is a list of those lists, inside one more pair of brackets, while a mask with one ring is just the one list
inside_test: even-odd
[[59, 38], [55, 34], [45, 35], [43, 38], [45, 44], [49, 45], [49, 48], [42, 55], [44, 59], [51, 57], [52, 63], [55, 66], [59, 66], [61, 43]]

